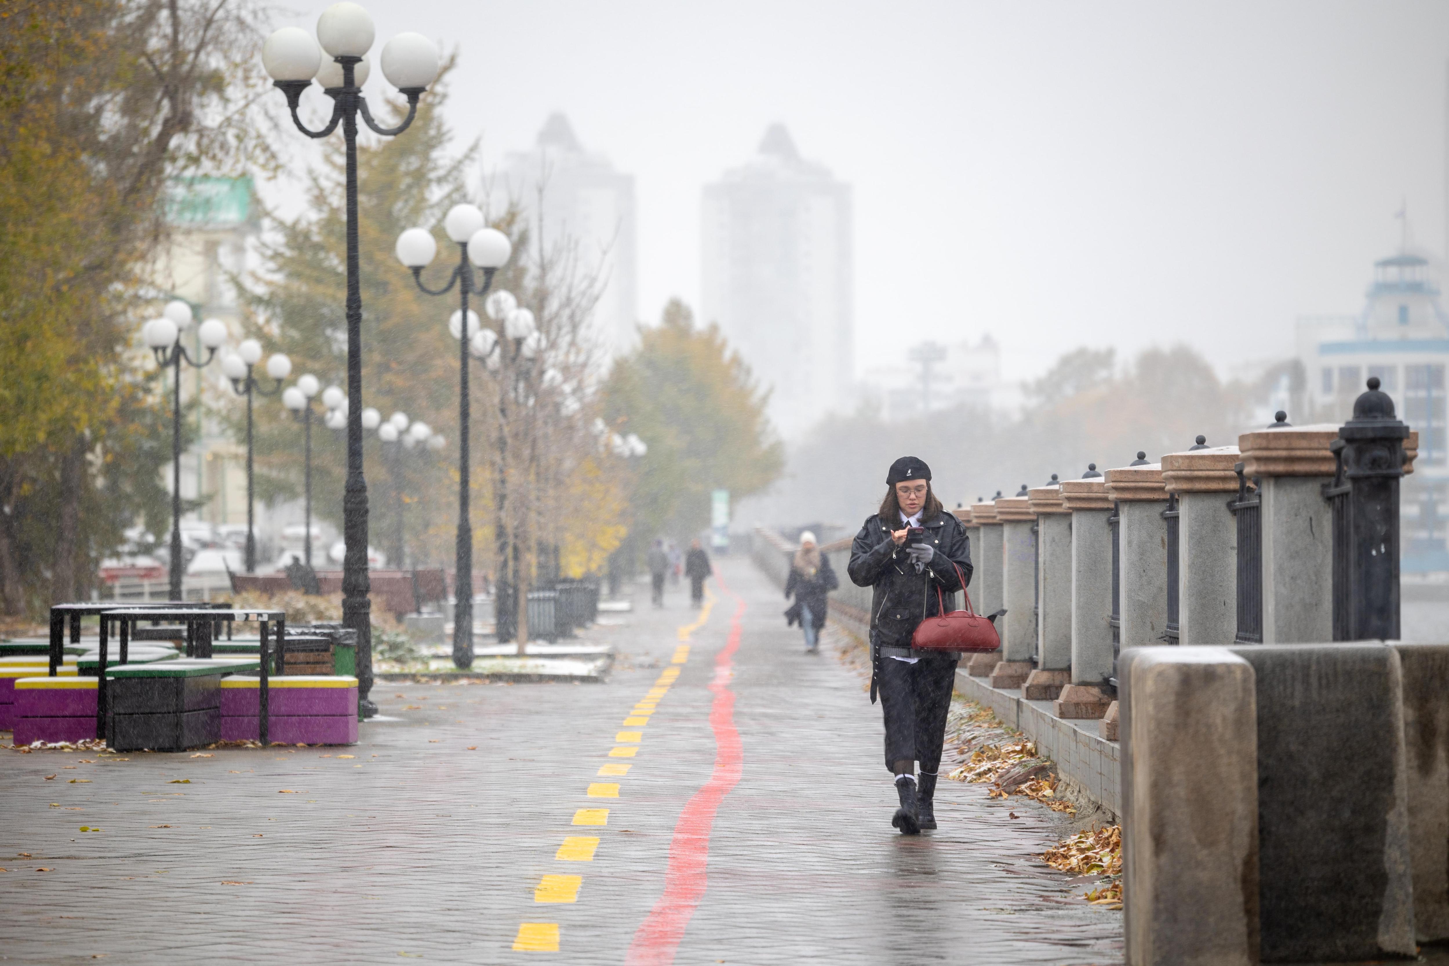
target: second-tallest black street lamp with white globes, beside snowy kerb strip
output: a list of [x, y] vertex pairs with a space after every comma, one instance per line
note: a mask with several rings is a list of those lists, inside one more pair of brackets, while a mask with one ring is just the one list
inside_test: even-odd
[[[468, 308], [469, 295], [487, 295], [493, 275], [509, 261], [513, 245], [509, 236], [485, 227], [483, 211], [472, 204], [455, 204], [443, 219], [448, 238], [458, 243], [458, 265], [448, 284], [429, 288], [423, 284], [423, 268], [438, 253], [432, 232], [413, 227], [397, 239], [397, 258], [412, 269], [413, 281], [429, 295], [446, 295], [458, 285], [458, 311], [451, 329], [458, 339], [458, 537], [454, 576], [454, 665], [467, 671], [472, 666], [472, 520], [468, 511], [468, 349], [478, 333], [478, 314]], [[483, 284], [474, 288], [472, 266], [483, 269]]]

